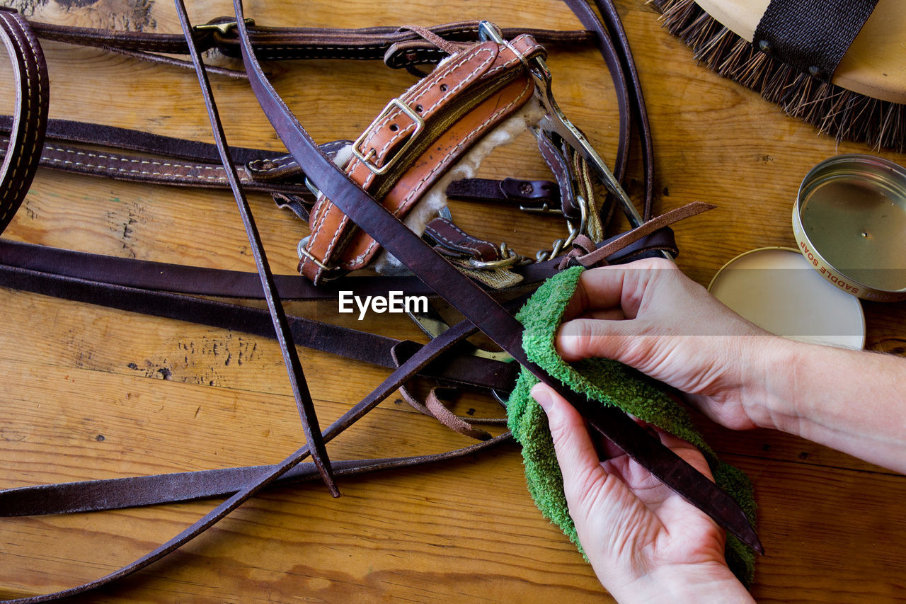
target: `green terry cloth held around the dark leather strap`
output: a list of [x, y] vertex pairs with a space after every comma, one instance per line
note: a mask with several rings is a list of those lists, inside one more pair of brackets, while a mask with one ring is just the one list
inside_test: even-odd
[[[616, 405], [699, 447], [708, 460], [715, 482], [739, 503], [749, 521], [754, 522], [756, 506], [752, 483], [746, 474], [718, 460], [686, 410], [664, 393], [663, 385], [610, 359], [587, 359], [568, 365], [557, 354], [554, 336], [582, 271], [582, 267], [569, 268], [548, 279], [516, 315], [525, 326], [522, 346], [529, 359], [574, 391], [602, 404]], [[566, 506], [563, 474], [557, 464], [545, 412], [529, 394], [537, 383], [537, 378], [523, 368], [506, 406], [509, 429], [523, 447], [525, 479], [535, 505], [564, 531], [584, 556]], [[755, 573], [755, 553], [736, 537], [728, 535], [726, 556], [730, 570], [745, 585], [750, 585]]]

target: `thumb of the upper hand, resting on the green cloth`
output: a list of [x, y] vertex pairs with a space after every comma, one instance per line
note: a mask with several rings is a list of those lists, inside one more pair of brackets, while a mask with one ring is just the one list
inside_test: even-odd
[[567, 363], [595, 357], [628, 363], [639, 327], [639, 319], [577, 318], [560, 326], [555, 344]]

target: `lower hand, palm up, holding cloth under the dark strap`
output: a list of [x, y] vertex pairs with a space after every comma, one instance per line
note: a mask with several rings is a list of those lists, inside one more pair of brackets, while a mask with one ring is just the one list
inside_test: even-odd
[[[627, 602], [748, 602], [724, 560], [718, 525], [612, 444], [605, 461], [582, 416], [544, 384], [545, 409], [579, 541], [602, 585]], [[711, 477], [698, 449], [660, 432], [664, 443]]]

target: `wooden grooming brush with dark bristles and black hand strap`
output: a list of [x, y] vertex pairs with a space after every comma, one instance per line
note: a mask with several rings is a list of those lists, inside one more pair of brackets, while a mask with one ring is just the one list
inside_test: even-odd
[[[852, 4], [649, 0], [649, 4], [660, 11], [670, 34], [692, 48], [696, 61], [775, 102], [788, 115], [837, 141], [906, 152], [906, 0], [878, 0], [873, 11], [872, 0]], [[857, 4], [861, 9], [853, 8]], [[823, 13], [824, 24], [830, 26], [803, 14], [807, 10]], [[853, 15], [859, 10], [862, 18]], [[782, 26], [766, 34], [766, 26], [776, 24], [777, 15]], [[871, 16], [864, 20], [866, 15]], [[838, 35], [847, 27], [855, 36], [848, 48], [840, 42], [845, 35]], [[802, 54], [834, 45], [842, 54], [839, 63], [830, 67], [802, 63]]]

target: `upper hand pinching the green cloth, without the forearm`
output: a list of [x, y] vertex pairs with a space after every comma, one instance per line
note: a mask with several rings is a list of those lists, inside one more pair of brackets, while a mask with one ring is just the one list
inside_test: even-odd
[[786, 346], [659, 258], [585, 271], [556, 339], [567, 362], [612, 358], [674, 386], [728, 428], [778, 427], [767, 351]]

